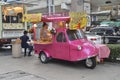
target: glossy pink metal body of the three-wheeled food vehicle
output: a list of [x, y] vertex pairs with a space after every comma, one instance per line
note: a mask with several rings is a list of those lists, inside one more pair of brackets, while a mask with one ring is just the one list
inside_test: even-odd
[[[68, 61], [80, 61], [97, 56], [98, 49], [86, 38], [70, 41], [66, 29], [59, 29], [57, 32], [63, 32], [67, 41], [59, 43], [56, 41], [56, 36], [53, 36], [51, 44], [34, 44], [35, 53], [39, 54], [44, 51], [48, 57]], [[78, 45], [81, 46], [81, 50], [78, 50]]]

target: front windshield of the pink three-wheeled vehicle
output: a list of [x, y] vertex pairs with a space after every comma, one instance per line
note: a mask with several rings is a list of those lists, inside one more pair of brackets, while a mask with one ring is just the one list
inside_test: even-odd
[[82, 30], [67, 30], [67, 35], [70, 41], [86, 38]]

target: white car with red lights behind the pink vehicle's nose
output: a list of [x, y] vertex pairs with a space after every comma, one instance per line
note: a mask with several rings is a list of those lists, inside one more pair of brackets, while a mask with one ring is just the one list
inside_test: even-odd
[[100, 35], [95, 35], [95, 34], [87, 32], [86, 37], [88, 40], [92, 41], [95, 44], [102, 44], [103, 43], [102, 36], [100, 36]]

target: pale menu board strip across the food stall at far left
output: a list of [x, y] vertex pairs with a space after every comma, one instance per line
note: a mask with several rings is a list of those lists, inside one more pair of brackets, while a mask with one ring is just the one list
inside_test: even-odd
[[3, 29], [24, 29], [23, 23], [3, 23]]

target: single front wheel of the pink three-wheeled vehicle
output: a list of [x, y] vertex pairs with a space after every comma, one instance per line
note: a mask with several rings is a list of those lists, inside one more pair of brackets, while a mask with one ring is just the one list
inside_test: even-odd
[[86, 68], [94, 69], [96, 67], [96, 59], [95, 59], [95, 57], [86, 59], [84, 64], [85, 64]]

